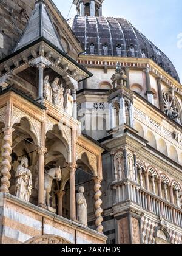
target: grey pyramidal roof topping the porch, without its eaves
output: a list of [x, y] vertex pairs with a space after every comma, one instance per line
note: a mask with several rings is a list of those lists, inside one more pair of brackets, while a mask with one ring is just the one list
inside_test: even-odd
[[30, 43], [38, 40], [39, 38], [45, 38], [58, 49], [64, 51], [59, 40], [58, 33], [56, 32], [55, 26], [50, 18], [50, 15], [45, 7], [43, 1], [39, 1], [35, 5], [33, 14], [27, 23], [18, 43], [15, 46], [13, 52], [22, 49]]

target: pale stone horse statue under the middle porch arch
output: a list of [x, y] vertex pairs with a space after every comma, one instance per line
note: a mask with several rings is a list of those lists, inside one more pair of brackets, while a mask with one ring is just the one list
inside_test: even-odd
[[49, 171], [45, 171], [44, 175], [44, 204], [50, 207], [50, 192], [52, 189], [53, 179], [61, 181], [61, 168], [52, 168]]

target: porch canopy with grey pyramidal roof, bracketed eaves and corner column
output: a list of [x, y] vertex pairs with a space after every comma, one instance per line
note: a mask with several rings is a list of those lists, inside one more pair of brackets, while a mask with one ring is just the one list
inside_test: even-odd
[[[42, 97], [42, 78], [45, 68], [50, 68], [63, 77], [69, 88], [77, 89], [79, 81], [92, 76], [64, 52], [44, 1], [36, 1], [35, 10], [13, 53], [0, 61], [0, 85], [5, 86], [4, 83], [12, 85], [15, 76], [31, 66], [39, 69], [38, 98]], [[33, 94], [31, 90], [28, 91]], [[25, 93], [28, 91], [26, 92], [24, 88]]]

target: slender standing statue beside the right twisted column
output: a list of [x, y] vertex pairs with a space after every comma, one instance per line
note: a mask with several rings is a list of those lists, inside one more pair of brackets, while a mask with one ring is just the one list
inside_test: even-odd
[[77, 220], [80, 224], [87, 227], [87, 202], [84, 197], [84, 187], [79, 187], [76, 194], [77, 202]]

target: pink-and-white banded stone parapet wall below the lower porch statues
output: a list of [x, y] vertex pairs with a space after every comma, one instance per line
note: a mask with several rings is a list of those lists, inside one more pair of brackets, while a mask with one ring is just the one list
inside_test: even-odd
[[44, 235], [72, 244], [103, 244], [107, 237], [15, 196], [0, 193], [0, 244], [27, 243]]

